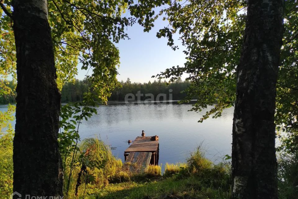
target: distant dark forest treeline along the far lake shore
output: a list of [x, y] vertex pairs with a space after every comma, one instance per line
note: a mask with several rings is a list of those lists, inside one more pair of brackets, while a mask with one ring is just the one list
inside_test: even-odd
[[[181, 91], [185, 90], [189, 85], [189, 81], [182, 81], [178, 79], [176, 82], [166, 84], [165, 81], [153, 81], [148, 83], [132, 83], [128, 78], [127, 81], [120, 82], [122, 87], [116, 88], [112, 91], [111, 97], [108, 98], [109, 101], [124, 101], [126, 94], [133, 94], [135, 96], [135, 100], [137, 100], [137, 93], [141, 94], [140, 99], [145, 100], [148, 98], [160, 96], [159, 94], [166, 94], [166, 99], [162, 96], [157, 100], [169, 100], [169, 97], [172, 96], [172, 100], [180, 100], [183, 99], [186, 95], [181, 93]], [[7, 84], [12, 90], [14, 90], [15, 85], [12, 81], [9, 81]], [[172, 89], [172, 90], [170, 90]], [[83, 99], [83, 93], [88, 91], [88, 81], [84, 80], [75, 80], [75, 82], [66, 82], [61, 90], [61, 102], [77, 102]], [[146, 94], [152, 94], [147, 95]], [[171, 94], [171, 95], [170, 95]], [[0, 104], [8, 104], [15, 103], [16, 93], [14, 92], [12, 95], [2, 95], [0, 96]], [[130, 96], [129, 99], [132, 99]]]

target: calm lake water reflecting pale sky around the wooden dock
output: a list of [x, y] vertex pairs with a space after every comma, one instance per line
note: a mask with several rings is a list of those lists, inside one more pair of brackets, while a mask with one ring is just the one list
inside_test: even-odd
[[[113, 154], [124, 161], [128, 140], [141, 136], [159, 136], [159, 164], [183, 162], [203, 142], [207, 158], [221, 161], [231, 155], [234, 108], [225, 109], [220, 118], [197, 121], [202, 112], [187, 111], [191, 104], [109, 104], [97, 107], [97, 115], [83, 121], [81, 139], [100, 137], [112, 147]], [[6, 105], [0, 111], [7, 110]], [[13, 125], [15, 122], [13, 122]]]

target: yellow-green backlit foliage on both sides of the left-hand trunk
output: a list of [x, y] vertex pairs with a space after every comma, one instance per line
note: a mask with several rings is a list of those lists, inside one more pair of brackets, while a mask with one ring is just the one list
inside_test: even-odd
[[[106, 101], [116, 80], [119, 66], [119, 50], [115, 43], [129, 39], [124, 32], [126, 27], [138, 22], [149, 31], [153, 26], [153, 8], [170, 1], [153, 0], [142, 4], [133, 0], [49, 0], [48, 21], [52, 32], [55, 54], [57, 85], [61, 90], [63, 82], [73, 80], [77, 74], [78, 62], [87, 71], [96, 96]], [[11, 1], [1, 1], [0, 10], [0, 77], [1, 95], [11, 89], [2, 79], [12, 76], [16, 81], [16, 49], [12, 30], [13, 19], [8, 13], [13, 8]], [[6, 8], [7, 12], [3, 12]], [[130, 12], [129, 17], [124, 15]], [[92, 74], [88, 74], [88, 72]]]

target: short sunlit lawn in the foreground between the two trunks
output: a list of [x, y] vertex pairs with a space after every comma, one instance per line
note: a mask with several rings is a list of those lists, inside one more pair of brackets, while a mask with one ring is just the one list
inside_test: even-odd
[[104, 198], [201, 198], [201, 199], [225, 199], [230, 197], [230, 192], [221, 188], [211, 188], [202, 183], [197, 176], [185, 179], [174, 177], [155, 180], [153, 182], [137, 183], [126, 182], [110, 184], [103, 189], [92, 190], [90, 199]]

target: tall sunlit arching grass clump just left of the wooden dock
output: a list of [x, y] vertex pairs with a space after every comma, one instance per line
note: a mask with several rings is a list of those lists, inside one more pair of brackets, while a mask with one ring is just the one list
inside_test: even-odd
[[[112, 176], [120, 173], [122, 161], [116, 159], [110, 147], [97, 138], [83, 140], [79, 145], [78, 153], [70, 178], [69, 198], [75, 197], [75, 187], [78, 187], [78, 195], [82, 197], [85, 195], [87, 184], [100, 188], [107, 185]], [[67, 158], [66, 165], [70, 164], [71, 157], [72, 155]], [[82, 168], [86, 168], [84, 172], [81, 172]], [[65, 171], [65, 174], [68, 174], [70, 168], [66, 167]], [[80, 172], [82, 175], [79, 175]], [[78, 178], [81, 184], [78, 184]], [[68, 179], [68, 176], [65, 176], [64, 179]], [[66, 184], [64, 183], [64, 185]], [[64, 190], [66, 191], [66, 187]]]

